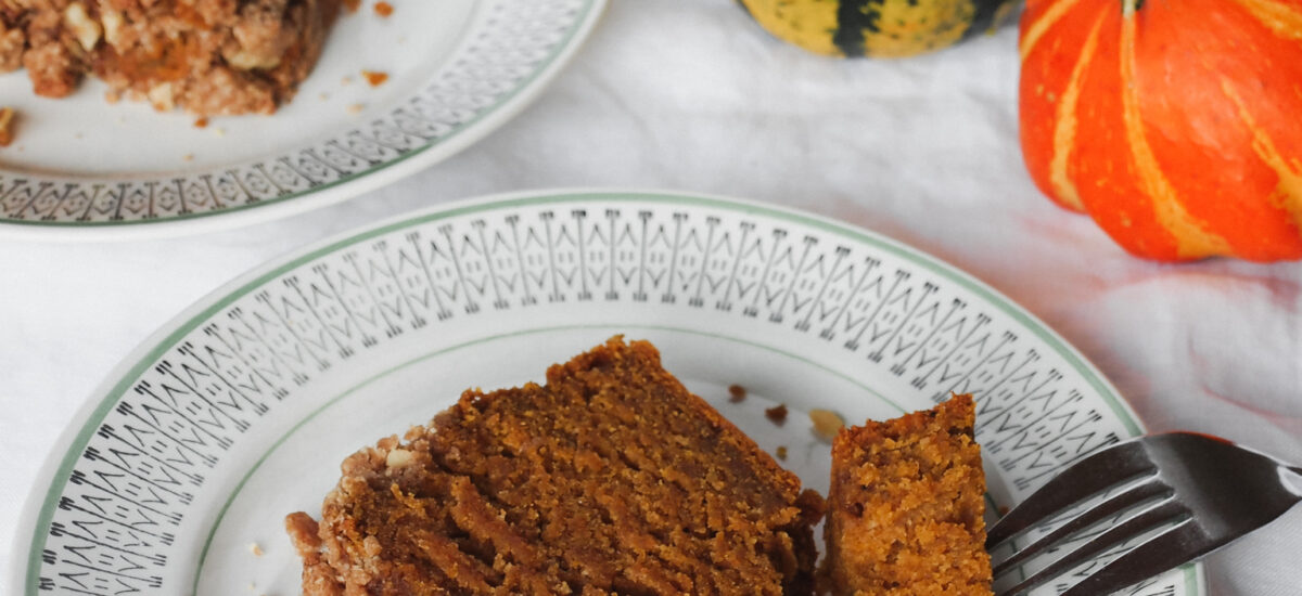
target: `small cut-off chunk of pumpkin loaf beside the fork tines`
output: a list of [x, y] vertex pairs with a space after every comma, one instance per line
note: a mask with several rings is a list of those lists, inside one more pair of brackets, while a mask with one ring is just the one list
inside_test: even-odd
[[965, 394], [836, 436], [824, 528], [833, 596], [991, 593], [974, 422]]

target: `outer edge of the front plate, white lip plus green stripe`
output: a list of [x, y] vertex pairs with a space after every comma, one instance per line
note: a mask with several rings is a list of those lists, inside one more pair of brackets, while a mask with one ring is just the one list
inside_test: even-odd
[[[90, 398], [87, 398], [86, 402], [78, 407], [77, 414], [73, 416], [72, 422], [69, 422], [68, 427], [62, 429], [59, 439], [55, 441], [55, 446], [42, 463], [36, 475], [36, 481], [27, 493], [26, 502], [23, 504], [16, 526], [13, 544], [13, 553], [16, 554], [13, 557], [10, 573], [13, 593], [25, 593], [27, 596], [38, 595], [35, 579], [39, 575], [42, 561], [39, 553], [44, 548], [46, 543], [47, 532], [44, 530], [48, 528], [51, 523], [55, 504], [59, 494], [61, 494], [66, 487], [66, 476], [69, 475], [72, 466], [76, 463], [81, 450], [90, 440], [90, 435], [92, 435], [98, 428], [99, 422], [113, 406], [117, 405], [121, 396], [128, 392], [130, 385], [146, 368], [148, 368], [160, 355], [174, 347], [177, 341], [203, 325], [223, 308], [305, 263], [396, 230], [477, 212], [491, 212], [523, 206], [564, 204], [573, 202], [615, 204], [644, 202], [732, 211], [807, 225], [854, 242], [861, 242], [875, 249], [892, 252], [896, 256], [917, 264], [939, 277], [961, 285], [963, 289], [984, 299], [991, 307], [1001, 311], [1021, 324], [1025, 329], [1032, 332], [1044, 342], [1046, 346], [1056, 350], [1070, 367], [1081, 373], [1082, 379], [1085, 379], [1088, 385], [1095, 389], [1098, 396], [1107, 403], [1118, 420], [1122, 422], [1126, 431], [1131, 436], [1144, 432], [1143, 423], [1139, 420], [1139, 416], [1134, 413], [1130, 403], [1121, 397], [1116, 386], [1113, 386], [1112, 383], [1103, 376], [1098, 367], [1086, 359], [1085, 355], [1075, 349], [1075, 346], [1069, 344], [1061, 334], [1051, 329], [1039, 318], [1032, 315], [1017, 302], [1005, 297], [999, 290], [978, 280], [975, 276], [960, 269], [958, 267], [866, 228], [837, 221], [835, 219], [815, 215], [807, 211], [762, 203], [751, 199], [671, 190], [547, 189], [495, 194], [417, 210], [336, 234], [331, 238], [318, 241], [280, 258], [275, 258], [208, 293], [206, 297], [197, 301], [180, 315], [172, 318], [154, 334], [141, 342], [100, 383], [100, 385], [91, 393]], [[17, 554], [25, 550], [27, 553], [25, 557]], [[1182, 566], [1181, 570], [1184, 571], [1182, 575], [1185, 578], [1185, 586], [1191, 596], [1203, 596], [1207, 593], [1207, 575], [1203, 562], [1187, 563]]]

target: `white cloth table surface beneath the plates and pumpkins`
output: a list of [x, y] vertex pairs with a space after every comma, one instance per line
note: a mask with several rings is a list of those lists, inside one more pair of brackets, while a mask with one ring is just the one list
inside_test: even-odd
[[[395, 1], [401, 9], [401, 4]], [[1302, 264], [1163, 265], [1031, 185], [1016, 29], [904, 61], [768, 38], [729, 0], [617, 0], [542, 98], [483, 142], [344, 204], [167, 241], [0, 239], [0, 561], [56, 433], [138, 342], [276, 255], [457, 198], [555, 186], [713, 193], [892, 236], [1026, 306], [1152, 431], [1302, 462]], [[1210, 560], [1215, 595], [1302, 595], [1302, 508]]]

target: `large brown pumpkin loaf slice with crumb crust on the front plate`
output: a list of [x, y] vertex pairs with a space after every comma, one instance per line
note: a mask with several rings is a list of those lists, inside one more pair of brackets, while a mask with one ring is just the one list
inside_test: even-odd
[[290, 514], [303, 593], [809, 595], [822, 500], [660, 367], [603, 346], [467, 390]]

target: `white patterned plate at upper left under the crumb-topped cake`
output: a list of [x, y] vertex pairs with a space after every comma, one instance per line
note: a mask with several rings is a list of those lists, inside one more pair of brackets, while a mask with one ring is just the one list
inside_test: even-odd
[[[156, 237], [264, 221], [344, 200], [486, 137], [551, 82], [607, 0], [365, 0], [342, 17], [297, 98], [271, 117], [156, 113], [33, 95], [0, 75], [18, 137], [0, 150], [0, 234]], [[389, 79], [371, 87], [361, 72]]]

